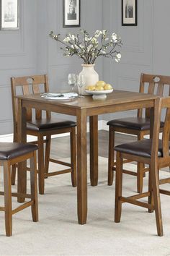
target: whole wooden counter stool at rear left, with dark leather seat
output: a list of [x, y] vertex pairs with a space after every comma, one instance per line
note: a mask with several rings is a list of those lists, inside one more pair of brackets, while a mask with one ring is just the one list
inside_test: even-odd
[[[32, 75], [27, 77], [12, 77], [12, 106], [14, 119], [14, 142], [17, 142], [17, 98], [16, 95], [29, 95], [34, 93], [48, 93], [48, 76]], [[20, 89], [20, 90], [19, 90]], [[35, 114], [35, 116], [34, 116]], [[70, 134], [71, 163], [58, 161], [50, 158], [51, 135], [57, 135], [68, 132]], [[45, 117], [42, 111], [27, 108], [27, 135], [37, 137], [38, 145], [38, 184], [40, 194], [44, 194], [45, 178], [48, 176], [66, 174], [71, 172], [72, 186], [76, 187], [76, 123], [71, 120], [52, 118], [50, 111], [45, 111]], [[46, 138], [44, 140], [44, 138]], [[45, 153], [44, 153], [45, 142]], [[45, 155], [45, 156], [44, 156]], [[49, 161], [67, 166], [65, 170], [48, 172]], [[12, 184], [15, 180], [16, 166], [12, 169]]]

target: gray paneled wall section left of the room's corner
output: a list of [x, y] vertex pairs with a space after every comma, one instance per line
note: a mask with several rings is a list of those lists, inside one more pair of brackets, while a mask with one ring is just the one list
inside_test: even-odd
[[[0, 135], [13, 132], [10, 77], [49, 75], [50, 90], [66, 90], [68, 72], [80, 72], [79, 59], [64, 58], [50, 30], [66, 35], [63, 0], [20, 0], [20, 29], [0, 30]], [[81, 27], [93, 33], [102, 27], [102, 0], [81, 0]], [[102, 76], [102, 61], [97, 62]]]

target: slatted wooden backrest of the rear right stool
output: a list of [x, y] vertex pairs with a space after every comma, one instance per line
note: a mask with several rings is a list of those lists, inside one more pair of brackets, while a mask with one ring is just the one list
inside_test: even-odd
[[[170, 95], [170, 76], [158, 74], [140, 74], [140, 93], [148, 93], [162, 97], [165, 93], [165, 87], [168, 85]], [[146, 91], [147, 90], [147, 91]], [[138, 109], [138, 117], [143, 116], [143, 109]], [[150, 118], [150, 108], [145, 109], [145, 117]]]

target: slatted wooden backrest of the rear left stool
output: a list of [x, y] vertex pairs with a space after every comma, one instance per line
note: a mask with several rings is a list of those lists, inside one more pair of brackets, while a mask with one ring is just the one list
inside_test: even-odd
[[[15, 98], [15, 96], [21, 94], [30, 95], [32, 93], [48, 93], [48, 76], [46, 74], [41, 74], [26, 77], [11, 77], [11, 87], [13, 119], [15, 127], [17, 124], [17, 98]], [[32, 110], [27, 108], [27, 121], [32, 120], [33, 111], [35, 111], [35, 119], [42, 119], [41, 110]], [[50, 111], [45, 112], [46, 118], [50, 118]]]

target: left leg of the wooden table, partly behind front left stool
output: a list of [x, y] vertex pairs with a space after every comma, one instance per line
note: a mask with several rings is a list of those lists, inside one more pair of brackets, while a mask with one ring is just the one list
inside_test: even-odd
[[[27, 142], [26, 135], [26, 108], [22, 108], [22, 101], [18, 100], [18, 116], [17, 116], [17, 141]], [[18, 193], [26, 194], [27, 190], [27, 161], [18, 164]], [[24, 202], [23, 197], [18, 197], [18, 202]]]

